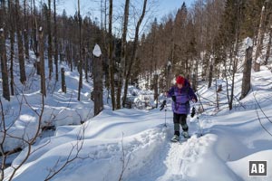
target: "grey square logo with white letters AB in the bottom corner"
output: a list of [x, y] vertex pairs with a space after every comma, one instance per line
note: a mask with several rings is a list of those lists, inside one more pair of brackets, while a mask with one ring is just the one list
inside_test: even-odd
[[267, 161], [249, 161], [249, 176], [267, 176]]

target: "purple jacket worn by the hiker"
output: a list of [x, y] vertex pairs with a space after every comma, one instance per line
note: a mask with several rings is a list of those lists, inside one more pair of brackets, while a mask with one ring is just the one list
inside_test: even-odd
[[177, 114], [189, 114], [189, 100], [196, 100], [198, 98], [191, 89], [189, 81], [185, 80], [184, 86], [179, 89], [177, 86], [171, 87], [168, 91], [168, 96], [172, 97], [172, 110]]

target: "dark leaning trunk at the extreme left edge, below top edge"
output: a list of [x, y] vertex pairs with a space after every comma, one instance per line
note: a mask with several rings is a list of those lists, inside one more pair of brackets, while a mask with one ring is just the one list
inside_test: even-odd
[[0, 59], [1, 59], [1, 71], [2, 71], [2, 88], [3, 97], [5, 100], [10, 101], [9, 86], [8, 86], [8, 71], [6, 64], [6, 50], [5, 50], [5, 33], [2, 28], [2, 22], [0, 25]]

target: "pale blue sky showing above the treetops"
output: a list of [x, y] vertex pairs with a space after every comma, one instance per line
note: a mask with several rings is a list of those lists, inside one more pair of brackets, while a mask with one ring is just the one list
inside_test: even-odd
[[[156, 4], [151, 5], [151, 2], [156, 1]], [[148, 7], [149, 11], [148, 14], [145, 15], [145, 19], [141, 24], [141, 33], [146, 33], [150, 30], [150, 24], [157, 18], [158, 22], [160, 23], [162, 18], [170, 13], [177, 11], [183, 2], [189, 7], [192, 5], [196, 0], [148, 0]], [[44, 0], [47, 2], [47, 0]], [[78, 0], [58, 0], [57, 11], [59, 14], [63, 13], [63, 10], [66, 11], [67, 15], [74, 15], [77, 10], [77, 2]], [[102, 0], [104, 2], [104, 0]], [[107, 1], [108, 2], [108, 1]], [[91, 17], [92, 21], [97, 22], [97, 24], [101, 24], [101, 0], [80, 0], [81, 3], [81, 14], [83, 16], [88, 15]], [[115, 36], [121, 36], [121, 18], [116, 18], [114, 22], [114, 17], [121, 17], [123, 14], [123, 6], [125, 0], [113, 0], [113, 33]], [[131, 5], [135, 5], [137, 10], [136, 12], [141, 12], [143, 0], [131, 0]], [[108, 10], [107, 10], [108, 11]], [[130, 8], [131, 11], [131, 8]], [[131, 15], [131, 12], [130, 12]], [[131, 15], [133, 17], [133, 15]], [[138, 15], [139, 17], [139, 15]], [[148, 17], [148, 18], [147, 18]], [[103, 18], [103, 17], [102, 17]], [[102, 21], [103, 22], [103, 21]], [[129, 30], [128, 30], [128, 39], [132, 39], [134, 37], [134, 29], [136, 26], [136, 22], [130, 22]]]

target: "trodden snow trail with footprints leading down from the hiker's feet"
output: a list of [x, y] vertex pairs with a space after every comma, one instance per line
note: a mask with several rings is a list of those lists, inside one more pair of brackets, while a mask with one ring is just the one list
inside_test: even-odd
[[199, 128], [196, 121], [189, 122], [189, 132], [193, 134], [188, 140], [181, 139], [180, 143], [170, 142], [173, 136], [173, 126], [168, 124], [163, 129], [166, 141], [160, 144], [156, 155], [149, 157], [143, 167], [130, 173], [124, 180], [188, 180], [195, 176], [194, 164], [201, 162], [201, 157], [207, 153], [207, 147], [213, 139], [207, 135], [199, 138]]

